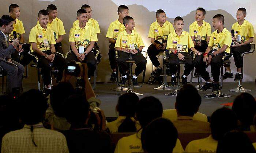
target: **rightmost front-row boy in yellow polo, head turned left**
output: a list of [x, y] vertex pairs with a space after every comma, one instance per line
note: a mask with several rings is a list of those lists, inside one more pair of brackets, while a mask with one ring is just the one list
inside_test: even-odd
[[[212, 32], [210, 42], [206, 52], [200, 58], [194, 60], [194, 65], [199, 71], [199, 74], [206, 81], [200, 89], [206, 91], [212, 87], [212, 92], [219, 90], [219, 75], [222, 65], [222, 58], [225, 54], [230, 54], [230, 45], [232, 42], [231, 33], [224, 27], [224, 16], [217, 14], [212, 17], [212, 26], [216, 31]], [[211, 74], [213, 82], [210, 79], [206, 68], [211, 65]]]

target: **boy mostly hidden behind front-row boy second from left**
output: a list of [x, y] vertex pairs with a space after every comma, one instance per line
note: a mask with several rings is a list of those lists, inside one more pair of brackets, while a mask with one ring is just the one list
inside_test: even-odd
[[[91, 18], [91, 14], [92, 14], [92, 9], [89, 5], [87, 4], [84, 4], [82, 5], [81, 9], [85, 9], [85, 11], [87, 12], [87, 15], [88, 15], [88, 21], [87, 21], [87, 24], [91, 27], [94, 27], [95, 30], [96, 30], [96, 34], [99, 34], [101, 33], [101, 31], [99, 30], [99, 23], [97, 20]], [[79, 24], [79, 20], [75, 20], [74, 23], [73, 23], [73, 28]]]

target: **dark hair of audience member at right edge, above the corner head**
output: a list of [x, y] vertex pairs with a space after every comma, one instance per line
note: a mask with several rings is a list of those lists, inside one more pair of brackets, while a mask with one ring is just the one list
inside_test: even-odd
[[253, 117], [256, 113], [255, 98], [249, 93], [242, 93], [234, 99], [232, 110], [242, 126], [253, 125]]

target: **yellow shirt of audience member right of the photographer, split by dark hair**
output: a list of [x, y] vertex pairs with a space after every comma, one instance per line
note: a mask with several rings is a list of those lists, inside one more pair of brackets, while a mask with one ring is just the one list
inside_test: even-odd
[[[124, 121], [125, 118], [126, 118], [125, 116], [119, 116], [113, 122], [107, 123], [106, 126], [109, 128], [110, 133], [118, 132], [118, 127], [121, 125], [121, 123]], [[135, 122], [135, 126], [138, 131], [140, 129], [140, 123], [136, 121], [133, 117], [131, 117], [131, 119], [133, 122]]]

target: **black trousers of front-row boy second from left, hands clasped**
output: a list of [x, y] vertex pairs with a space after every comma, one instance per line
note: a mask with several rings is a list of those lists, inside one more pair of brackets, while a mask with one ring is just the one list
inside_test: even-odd
[[[71, 62], [72, 60], [78, 61], [76, 55], [74, 52], [69, 53], [68, 57], [67, 57], [67, 61]], [[96, 62], [95, 62], [95, 55], [94, 55], [94, 51], [90, 51], [84, 58], [84, 60], [82, 61], [82, 63], [86, 63], [88, 66], [88, 77], [94, 76], [94, 71], [96, 69]]]

